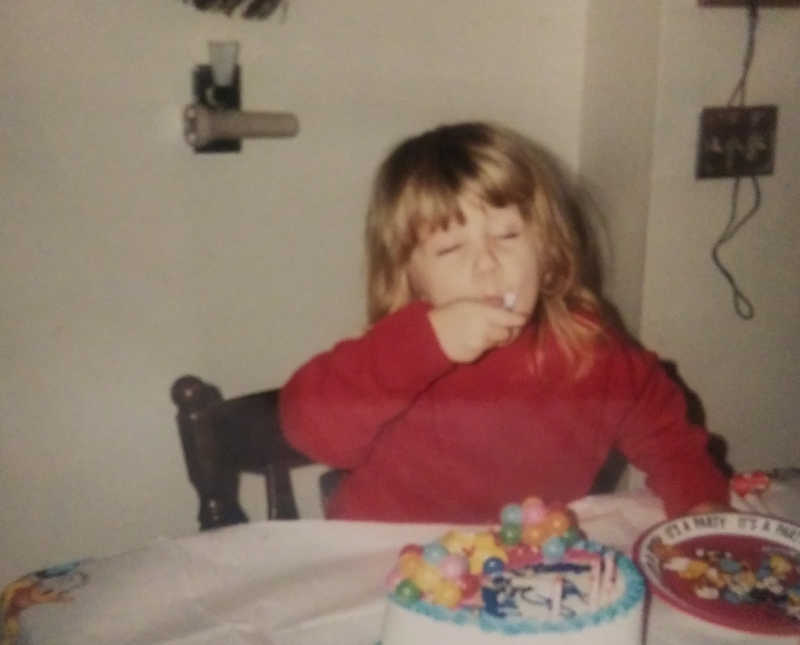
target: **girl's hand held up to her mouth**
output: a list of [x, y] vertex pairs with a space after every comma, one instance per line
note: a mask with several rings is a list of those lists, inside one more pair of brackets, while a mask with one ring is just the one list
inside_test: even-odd
[[479, 300], [457, 300], [431, 309], [428, 318], [445, 356], [471, 363], [488, 350], [507, 345], [520, 333], [527, 316]]

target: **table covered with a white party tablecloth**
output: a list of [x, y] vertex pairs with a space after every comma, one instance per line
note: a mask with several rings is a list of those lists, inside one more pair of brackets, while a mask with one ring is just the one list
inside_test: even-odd
[[[591, 539], [628, 553], [664, 519], [647, 491], [590, 496], [570, 507]], [[158, 539], [18, 581], [4, 597], [6, 629], [18, 645], [375, 645], [383, 581], [399, 548], [450, 528], [264, 521]], [[648, 645], [669, 642], [667, 634], [648, 635]]]

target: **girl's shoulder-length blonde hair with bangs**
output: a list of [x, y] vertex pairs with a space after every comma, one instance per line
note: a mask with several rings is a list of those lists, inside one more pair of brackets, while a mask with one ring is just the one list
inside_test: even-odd
[[462, 220], [465, 191], [486, 203], [516, 205], [536, 227], [539, 337], [551, 330], [578, 371], [591, 361], [603, 328], [599, 298], [583, 259], [585, 222], [553, 157], [513, 130], [488, 123], [448, 125], [399, 144], [380, 166], [367, 212], [367, 306], [370, 323], [411, 299], [406, 266], [422, 231]]

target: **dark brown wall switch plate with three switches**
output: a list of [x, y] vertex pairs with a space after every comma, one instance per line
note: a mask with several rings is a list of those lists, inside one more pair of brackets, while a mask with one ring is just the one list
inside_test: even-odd
[[776, 105], [710, 107], [700, 113], [698, 179], [771, 175], [775, 163]]

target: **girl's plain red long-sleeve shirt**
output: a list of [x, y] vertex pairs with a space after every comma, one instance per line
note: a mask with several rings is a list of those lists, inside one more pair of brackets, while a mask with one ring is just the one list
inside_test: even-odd
[[509, 501], [585, 495], [616, 445], [669, 515], [726, 503], [727, 481], [686, 421], [658, 358], [610, 332], [570, 377], [554, 340], [532, 367], [531, 330], [470, 364], [442, 352], [417, 302], [311, 359], [282, 388], [289, 442], [350, 471], [334, 518], [487, 522]]

